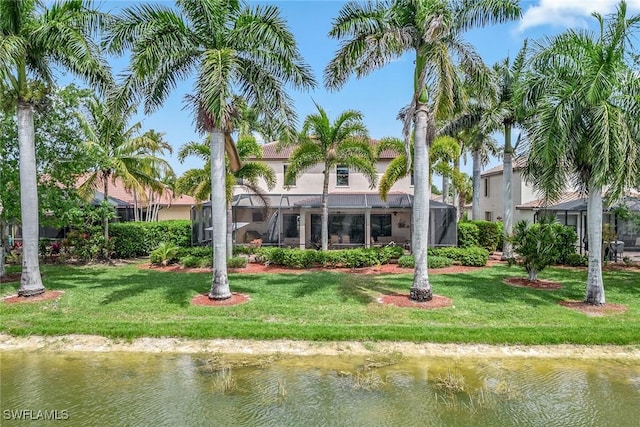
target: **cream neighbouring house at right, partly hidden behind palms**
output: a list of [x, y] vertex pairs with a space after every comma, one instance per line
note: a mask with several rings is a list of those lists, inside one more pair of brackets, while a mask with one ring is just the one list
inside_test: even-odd
[[[578, 233], [576, 245], [582, 252], [587, 245], [587, 202], [584, 194], [567, 184], [565, 193], [553, 204], [546, 203], [526, 182], [522, 175], [526, 158], [518, 157], [513, 162], [513, 202], [514, 224], [520, 220], [535, 222], [541, 212], [552, 212], [561, 224], [573, 227]], [[500, 221], [503, 215], [503, 167], [502, 165], [488, 169], [481, 175], [480, 212], [482, 219]], [[630, 193], [622, 202], [636, 213], [640, 213], [640, 194]], [[623, 242], [626, 249], [640, 249], [640, 230], [631, 221], [617, 218], [611, 209], [603, 212], [603, 224], [610, 224], [616, 240]]]

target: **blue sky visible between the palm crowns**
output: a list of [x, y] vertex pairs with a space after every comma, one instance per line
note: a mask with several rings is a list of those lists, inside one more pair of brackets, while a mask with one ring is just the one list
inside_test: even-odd
[[[171, 1], [159, 1], [171, 5]], [[345, 3], [337, 0], [281, 0], [256, 2], [276, 4], [281, 9], [290, 29], [296, 37], [298, 47], [311, 66], [320, 85], [309, 92], [291, 92], [299, 120], [314, 113], [313, 101], [320, 104], [335, 118], [346, 109], [359, 110], [364, 114], [364, 121], [373, 138], [385, 136], [401, 136], [401, 123], [396, 120], [400, 108], [411, 99], [413, 57], [403, 56], [382, 70], [373, 72], [367, 77], [351, 78], [337, 92], [328, 92], [322, 87], [322, 73], [338, 48], [338, 42], [327, 36], [332, 19]], [[103, 9], [117, 10], [120, 7], [134, 4], [133, 1], [106, 0]], [[567, 27], [586, 27], [593, 23], [590, 12], [598, 10], [606, 14], [614, 10], [614, 0], [525, 0], [521, 1], [524, 9], [523, 19], [504, 25], [474, 30], [466, 34], [487, 65], [492, 65], [506, 56], [515, 56], [525, 38], [540, 39], [562, 32]], [[640, 0], [628, 0], [631, 11], [640, 11]], [[114, 73], [126, 66], [126, 59], [112, 61]], [[201, 136], [193, 131], [193, 119], [190, 112], [183, 109], [184, 95], [191, 91], [191, 81], [185, 81], [171, 94], [164, 107], [152, 115], [140, 118], [145, 129], [155, 129], [165, 133], [166, 140], [174, 147], [174, 152], [188, 141], [199, 141]], [[498, 141], [500, 135], [496, 135]], [[196, 159], [187, 159], [180, 164], [171, 157], [170, 162], [178, 175], [186, 169], [201, 167]], [[493, 159], [488, 167], [499, 163]], [[470, 160], [463, 170], [470, 173]], [[437, 182], [437, 181], [435, 181]]]

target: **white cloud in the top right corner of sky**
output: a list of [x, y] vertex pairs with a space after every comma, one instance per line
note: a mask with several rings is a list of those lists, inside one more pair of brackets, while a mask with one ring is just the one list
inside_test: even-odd
[[[584, 26], [591, 13], [611, 13], [618, 3], [619, 0], [540, 0], [526, 9], [518, 29], [524, 31], [540, 25]], [[627, 0], [627, 13], [639, 10], [640, 0]]]

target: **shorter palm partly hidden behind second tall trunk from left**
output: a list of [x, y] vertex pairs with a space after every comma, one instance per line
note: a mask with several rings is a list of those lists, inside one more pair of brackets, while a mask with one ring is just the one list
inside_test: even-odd
[[[180, 162], [183, 162], [189, 156], [195, 156], [205, 161], [203, 168], [187, 170], [176, 182], [176, 189], [179, 192], [189, 194], [200, 202], [209, 200], [211, 196], [211, 162], [209, 160], [211, 150], [209, 146], [208, 142], [188, 142], [178, 152], [178, 160]], [[245, 187], [262, 200], [265, 207], [268, 207], [267, 193], [260, 187], [259, 180], [263, 179], [267, 184], [267, 189], [272, 190], [276, 185], [275, 171], [264, 162], [251, 161], [252, 159], [262, 158], [262, 147], [252, 135], [244, 134], [238, 138], [237, 151], [243, 166], [242, 169], [233, 172], [227, 162], [227, 177], [225, 181], [227, 211], [232, 208], [231, 202], [235, 186]], [[227, 212], [227, 219], [229, 219], [229, 216], [229, 212]], [[230, 258], [233, 252], [233, 246], [230, 245], [232, 243], [232, 232], [233, 229], [227, 227], [227, 258]]]

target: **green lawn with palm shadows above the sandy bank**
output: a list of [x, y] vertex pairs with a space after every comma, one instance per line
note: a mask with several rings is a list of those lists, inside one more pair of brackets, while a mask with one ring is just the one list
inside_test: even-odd
[[[408, 292], [411, 275], [361, 276], [337, 272], [230, 274], [231, 289], [251, 295], [230, 307], [196, 307], [209, 290], [208, 273], [137, 268], [45, 266], [57, 302], [0, 303], [0, 331], [13, 335], [97, 334], [135, 338], [252, 338], [357, 341], [429, 341], [488, 344], [640, 344], [640, 273], [606, 271], [607, 300], [626, 313], [588, 317], [558, 304], [584, 297], [586, 272], [548, 269], [541, 279], [563, 289], [510, 287], [515, 267], [431, 275], [434, 292], [453, 300], [438, 310], [380, 305], [384, 293]], [[18, 283], [0, 286], [15, 293]]]

